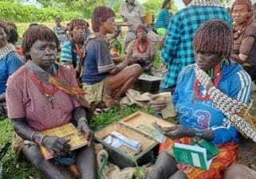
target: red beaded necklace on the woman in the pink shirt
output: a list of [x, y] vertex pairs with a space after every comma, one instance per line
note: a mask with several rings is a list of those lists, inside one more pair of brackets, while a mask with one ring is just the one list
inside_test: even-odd
[[[57, 68], [55, 68], [53, 64], [53, 76], [57, 77]], [[53, 89], [46, 88], [45, 85], [42, 83], [41, 80], [38, 79], [37, 74], [35, 72], [30, 73], [31, 80], [33, 81], [33, 84], [35, 84], [40, 91], [45, 95], [45, 97], [49, 100], [49, 102], [52, 105], [52, 108], [54, 108], [54, 94], [59, 90], [57, 86], [53, 85]]]

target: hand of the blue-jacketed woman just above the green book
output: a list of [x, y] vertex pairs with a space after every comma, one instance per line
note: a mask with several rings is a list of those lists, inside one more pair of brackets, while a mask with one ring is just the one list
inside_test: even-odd
[[184, 137], [193, 138], [195, 136], [195, 130], [181, 125], [167, 127], [162, 133], [172, 140]]

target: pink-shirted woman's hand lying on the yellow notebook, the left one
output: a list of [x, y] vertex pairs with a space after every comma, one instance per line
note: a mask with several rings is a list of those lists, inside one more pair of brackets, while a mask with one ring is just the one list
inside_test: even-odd
[[53, 154], [53, 157], [57, 157], [69, 154], [69, 141], [70, 139], [45, 136], [41, 143]]

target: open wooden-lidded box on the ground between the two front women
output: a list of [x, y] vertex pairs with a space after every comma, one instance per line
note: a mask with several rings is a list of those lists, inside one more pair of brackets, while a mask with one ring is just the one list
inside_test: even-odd
[[[163, 119], [158, 119], [155, 116], [138, 111], [121, 119], [119, 122], [112, 123], [97, 130], [95, 132], [95, 138], [96, 141], [102, 143], [104, 148], [108, 151], [109, 161], [120, 166], [120, 168], [135, 166], [134, 161], [136, 161], [138, 165], [144, 165], [152, 161], [154, 152], [156, 154], [158, 150], [158, 144], [166, 139], [163, 134], [160, 134], [160, 132], [152, 126], [154, 122], [159, 123], [161, 126], [173, 125]], [[136, 152], [126, 146], [120, 146], [116, 149], [104, 142], [104, 138], [112, 131], [116, 131], [128, 138], [141, 142], [141, 150]]]

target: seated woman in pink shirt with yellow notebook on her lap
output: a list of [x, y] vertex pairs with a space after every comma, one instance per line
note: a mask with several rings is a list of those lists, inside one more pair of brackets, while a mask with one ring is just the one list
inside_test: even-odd
[[[8, 116], [19, 136], [14, 146], [46, 178], [72, 178], [63, 165], [76, 163], [81, 178], [95, 179], [93, 144], [71, 152], [69, 140], [41, 134], [41, 130], [76, 123], [77, 130], [89, 138], [84, 107], [74, 99], [85, 92], [77, 88], [77, 80], [69, 69], [55, 63], [58, 45], [57, 36], [45, 25], [24, 33], [22, 50], [28, 61], [10, 76], [6, 91]], [[45, 160], [41, 145], [57, 158]]]

